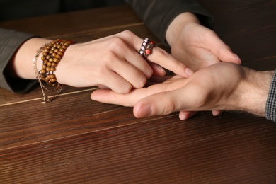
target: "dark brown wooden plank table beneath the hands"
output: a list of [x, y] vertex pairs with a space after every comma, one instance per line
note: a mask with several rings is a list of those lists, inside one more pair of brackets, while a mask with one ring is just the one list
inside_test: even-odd
[[[275, 0], [200, 2], [243, 65], [275, 69]], [[127, 5], [0, 26], [77, 42], [122, 30], [156, 40]], [[132, 108], [92, 101], [93, 90], [67, 86], [45, 104], [38, 86], [25, 94], [0, 89], [0, 183], [276, 182], [275, 122], [239, 112], [136, 119]]]

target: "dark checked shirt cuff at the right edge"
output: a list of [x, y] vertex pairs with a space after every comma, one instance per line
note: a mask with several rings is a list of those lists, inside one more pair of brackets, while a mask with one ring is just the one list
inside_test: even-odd
[[272, 77], [268, 99], [265, 105], [265, 117], [276, 122], [276, 71]]

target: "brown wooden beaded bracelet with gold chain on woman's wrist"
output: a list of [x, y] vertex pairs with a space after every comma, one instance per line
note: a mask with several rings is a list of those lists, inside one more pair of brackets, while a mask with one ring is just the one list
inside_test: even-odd
[[[57, 64], [59, 63], [60, 59], [62, 59], [62, 56], [67, 50], [67, 47], [70, 45], [74, 44], [73, 41], [68, 41], [68, 40], [53, 40], [50, 43], [46, 43], [45, 45], [42, 45], [39, 50], [37, 50], [37, 53], [35, 54], [35, 57], [33, 58], [33, 69], [35, 70], [35, 75], [37, 76], [38, 82], [40, 84], [42, 94], [43, 94], [43, 99], [42, 102], [50, 102], [54, 100], [54, 98], [57, 98], [59, 93], [62, 91], [62, 87], [64, 85], [59, 84], [57, 81], [57, 78], [54, 74], [54, 71], [56, 71]], [[42, 69], [38, 71], [36, 67], [36, 62], [38, 60], [39, 54], [42, 52]], [[53, 86], [53, 89], [48, 89], [46, 88], [43, 84], [42, 81], [45, 81], [47, 84]], [[56, 91], [57, 93], [52, 96], [46, 96], [45, 91], [47, 92], [54, 92]]]

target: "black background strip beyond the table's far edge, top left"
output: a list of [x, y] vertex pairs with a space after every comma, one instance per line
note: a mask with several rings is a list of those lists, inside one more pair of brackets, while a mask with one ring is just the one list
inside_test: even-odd
[[[124, 0], [0, 0], [0, 21], [125, 4]], [[54, 20], [53, 20], [54, 21]]]

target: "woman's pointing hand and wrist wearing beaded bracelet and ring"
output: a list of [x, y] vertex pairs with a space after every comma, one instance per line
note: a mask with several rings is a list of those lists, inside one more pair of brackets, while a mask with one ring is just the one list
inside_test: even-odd
[[[23, 79], [35, 79], [31, 61], [35, 51], [45, 42], [50, 40], [33, 38], [21, 46], [10, 67], [14, 75]], [[91, 42], [70, 45], [54, 74], [60, 84], [74, 87], [99, 86], [110, 88], [116, 93], [142, 88], [152, 75], [166, 74], [162, 67], [183, 77], [192, 74], [183, 63], [160, 47], [154, 47], [152, 54], [145, 59], [138, 54], [142, 42], [142, 38], [134, 33], [124, 31]], [[28, 60], [30, 62], [25, 62]], [[38, 70], [41, 66], [42, 61], [38, 59]]]

